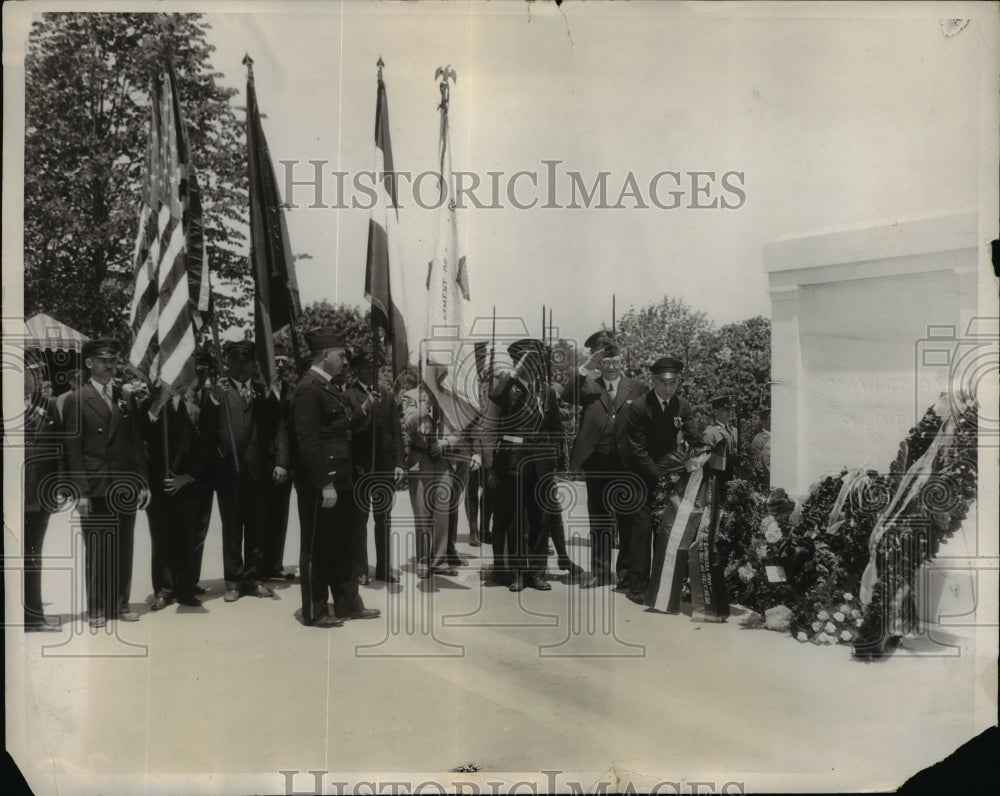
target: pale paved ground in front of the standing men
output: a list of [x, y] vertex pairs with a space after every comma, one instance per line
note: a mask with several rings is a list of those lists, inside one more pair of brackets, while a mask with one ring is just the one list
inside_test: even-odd
[[[395, 517], [408, 524], [405, 497]], [[576, 519], [572, 554], [586, 564]], [[275, 599], [222, 601], [217, 517], [202, 609], [143, 606], [140, 622], [95, 632], [74, 616], [82, 566], [67, 515], [45, 552], [47, 610], [66, 627], [7, 638], [8, 738], [38, 793], [336, 793], [361, 780], [374, 784], [344, 792], [389, 793], [392, 781], [412, 792], [428, 780], [482, 792], [516, 780], [537, 792], [574, 781], [585, 791], [602, 781], [609, 791], [663, 782], [665, 793], [704, 792], [698, 781], [732, 793], [885, 789], [995, 717], [971, 635], [938, 633], [954, 647], [908, 639], [890, 661], [861, 664], [845, 647], [693, 624], [606, 589], [555, 581], [515, 595], [483, 584], [474, 558], [457, 578], [420, 581], [407, 563], [399, 586], [363, 588], [379, 620], [303, 628], [297, 582]], [[148, 562], [140, 518], [134, 604], [150, 593]], [[448, 773], [468, 763], [478, 773]], [[309, 771], [328, 773], [316, 787]]]

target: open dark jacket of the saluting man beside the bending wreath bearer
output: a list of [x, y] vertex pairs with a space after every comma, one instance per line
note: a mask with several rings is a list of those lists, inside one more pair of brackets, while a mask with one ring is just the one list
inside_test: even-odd
[[638, 400], [647, 387], [636, 379], [622, 376], [618, 381], [618, 391], [614, 401], [608, 395], [604, 379], [584, 377], [577, 374], [574, 381], [563, 387], [562, 400], [574, 401], [582, 407], [580, 413], [580, 430], [573, 440], [573, 450], [570, 452], [569, 469], [580, 470], [584, 462], [597, 450], [601, 435], [608, 424], [613, 426], [615, 449], [623, 462], [629, 460], [628, 446], [628, 409], [629, 405]]

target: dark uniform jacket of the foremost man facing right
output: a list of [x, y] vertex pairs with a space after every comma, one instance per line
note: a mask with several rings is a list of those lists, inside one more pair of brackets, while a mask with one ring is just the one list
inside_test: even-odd
[[306, 371], [279, 430], [284, 439], [278, 449], [291, 458], [296, 489], [318, 492], [329, 484], [338, 492], [351, 488], [351, 437], [358, 422], [350, 397], [338, 385]]

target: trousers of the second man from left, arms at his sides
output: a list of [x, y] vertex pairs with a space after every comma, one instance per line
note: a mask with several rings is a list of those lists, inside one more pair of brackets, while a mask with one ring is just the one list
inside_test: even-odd
[[87, 611], [115, 618], [128, 608], [132, 584], [135, 508], [113, 507], [107, 498], [90, 499], [90, 512], [80, 518], [85, 548]]

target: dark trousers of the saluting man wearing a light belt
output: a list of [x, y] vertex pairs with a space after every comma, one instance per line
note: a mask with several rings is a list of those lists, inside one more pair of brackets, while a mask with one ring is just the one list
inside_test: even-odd
[[520, 572], [526, 578], [545, 574], [551, 522], [545, 521], [538, 486], [530, 468], [500, 474], [494, 493], [494, 572]]

